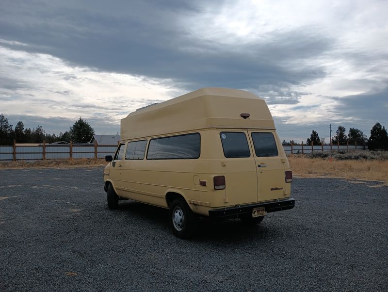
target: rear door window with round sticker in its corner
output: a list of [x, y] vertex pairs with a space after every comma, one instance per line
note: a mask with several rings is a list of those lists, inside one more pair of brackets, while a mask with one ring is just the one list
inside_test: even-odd
[[250, 157], [248, 141], [243, 132], [221, 132], [221, 143], [226, 158]]

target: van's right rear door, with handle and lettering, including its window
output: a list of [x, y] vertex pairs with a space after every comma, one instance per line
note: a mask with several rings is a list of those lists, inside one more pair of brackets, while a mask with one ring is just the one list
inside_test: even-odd
[[258, 201], [281, 199], [285, 187], [284, 165], [273, 131], [248, 131], [254, 152]]

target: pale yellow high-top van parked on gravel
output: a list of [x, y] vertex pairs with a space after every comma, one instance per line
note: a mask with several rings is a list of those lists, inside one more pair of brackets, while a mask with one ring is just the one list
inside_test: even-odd
[[265, 101], [249, 92], [202, 88], [130, 113], [104, 170], [108, 206], [120, 199], [170, 209], [175, 235], [198, 216], [239, 217], [294, 207], [292, 172]]

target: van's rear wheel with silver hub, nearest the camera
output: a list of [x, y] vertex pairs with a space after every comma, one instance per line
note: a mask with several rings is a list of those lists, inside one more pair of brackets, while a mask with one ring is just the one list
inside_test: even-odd
[[175, 199], [171, 203], [169, 222], [174, 235], [179, 238], [192, 237], [198, 227], [198, 217], [183, 198]]

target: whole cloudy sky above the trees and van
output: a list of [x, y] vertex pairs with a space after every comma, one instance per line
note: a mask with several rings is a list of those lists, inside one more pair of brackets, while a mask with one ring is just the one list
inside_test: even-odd
[[120, 132], [202, 87], [266, 100], [280, 139], [388, 126], [387, 0], [0, 0], [0, 113]]

